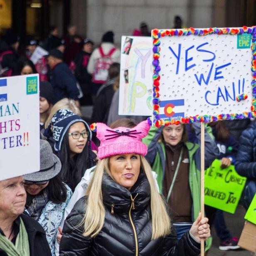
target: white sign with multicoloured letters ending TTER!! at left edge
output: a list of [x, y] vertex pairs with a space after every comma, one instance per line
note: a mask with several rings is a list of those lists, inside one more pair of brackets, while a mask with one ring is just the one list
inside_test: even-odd
[[0, 79], [0, 180], [40, 169], [39, 76]]

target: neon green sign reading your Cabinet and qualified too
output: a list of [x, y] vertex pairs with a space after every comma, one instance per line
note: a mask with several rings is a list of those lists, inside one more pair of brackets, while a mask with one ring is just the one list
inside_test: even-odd
[[241, 197], [246, 177], [237, 174], [234, 165], [221, 168], [221, 160], [215, 159], [205, 170], [204, 204], [234, 213]]

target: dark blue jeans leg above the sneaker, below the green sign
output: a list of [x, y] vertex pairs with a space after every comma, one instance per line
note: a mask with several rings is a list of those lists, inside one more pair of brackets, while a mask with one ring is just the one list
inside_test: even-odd
[[222, 210], [218, 209], [215, 214], [214, 228], [215, 228], [217, 236], [219, 236], [219, 239], [221, 241], [226, 241], [226, 240], [232, 238], [229, 230], [226, 228], [226, 223], [225, 223], [225, 219], [224, 219]]

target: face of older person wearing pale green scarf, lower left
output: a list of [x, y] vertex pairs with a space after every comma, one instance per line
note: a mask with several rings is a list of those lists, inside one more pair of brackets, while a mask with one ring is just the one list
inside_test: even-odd
[[22, 176], [0, 181], [0, 215], [17, 217], [24, 211], [27, 194]]

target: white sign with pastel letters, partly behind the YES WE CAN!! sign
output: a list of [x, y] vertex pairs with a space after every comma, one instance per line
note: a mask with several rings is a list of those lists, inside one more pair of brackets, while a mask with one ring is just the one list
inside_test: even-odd
[[122, 36], [119, 115], [152, 114], [152, 39]]

